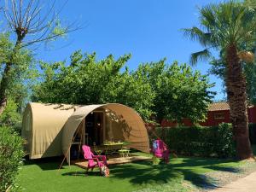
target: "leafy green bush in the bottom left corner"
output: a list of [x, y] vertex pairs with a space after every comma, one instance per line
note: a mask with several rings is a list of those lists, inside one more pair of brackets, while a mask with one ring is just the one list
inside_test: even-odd
[[9, 127], [0, 127], [0, 191], [16, 188], [15, 178], [24, 155], [22, 138]]

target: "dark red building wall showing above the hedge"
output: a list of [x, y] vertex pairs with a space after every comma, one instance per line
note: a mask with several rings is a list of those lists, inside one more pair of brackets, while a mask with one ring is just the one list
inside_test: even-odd
[[[249, 123], [256, 123], [256, 106], [253, 108], [248, 108], [248, 120]], [[185, 126], [192, 126], [193, 124], [189, 119], [183, 119], [183, 125]], [[205, 122], [201, 122], [200, 125], [202, 126], [215, 126], [220, 123], [231, 123], [230, 122], [230, 111], [223, 110], [223, 111], [209, 111], [207, 113], [207, 119]], [[161, 121], [161, 126], [163, 127], [175, 127], [177, 126], [177, 122], [171, 122], [166, 119]]]

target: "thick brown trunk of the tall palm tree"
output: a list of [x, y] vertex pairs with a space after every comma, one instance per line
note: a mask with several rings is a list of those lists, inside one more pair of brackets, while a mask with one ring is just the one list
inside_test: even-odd
[[230, 120], [236, 141], [237, 158], [244, 160], [253, 156], [248, 134], [246, 79], [242, 73], [241, 62], [236, 45], [227, 48], [226, 88], [230, 104]]

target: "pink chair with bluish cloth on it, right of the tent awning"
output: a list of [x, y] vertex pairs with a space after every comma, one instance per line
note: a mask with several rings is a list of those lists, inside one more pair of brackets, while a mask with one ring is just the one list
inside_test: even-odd
[[153, 148], [151, 149], [151, 152], [154, 154], [155, 157], [165, 160], [166, 163], [169, 162], [170, 153], [166, 143], [164, 143], [160, 139], [157, 139], [157, 140], [154, 140], [152, 147]]

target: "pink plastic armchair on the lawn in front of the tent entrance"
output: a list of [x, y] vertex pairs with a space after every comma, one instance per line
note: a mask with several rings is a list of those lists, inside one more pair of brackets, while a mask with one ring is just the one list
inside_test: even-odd
[[108, 166], [107, 158], [105, 155], [94, 155], [91, 153], [90, 147], [87, 145], [83, 145], [82, 149], [84, 151], [84, 160], [88, 160], [87, 172], [89, 169], [93, 171], [94, 167], [96, 166], [101, 167], [102, 164]]

